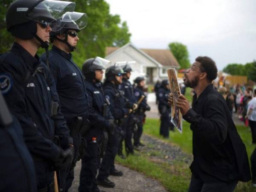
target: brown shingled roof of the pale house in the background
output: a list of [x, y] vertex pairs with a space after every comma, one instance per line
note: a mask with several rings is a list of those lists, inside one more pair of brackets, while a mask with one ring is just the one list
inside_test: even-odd
[[[133, 46], [132, 44], [129, 44]], [[133, 46], [134, 47], [134, 46]], [[106, 47], [105, 53], [106, 56], [110, 55], [111, 53], [115, 52], [120, 47]], [[149, 55], [158, 63], [162, 64], [163, 66], [172, 66], [179, 68], [180, 65], [178, 64], [172, 52], [168, 49], [138, 49], [140, 52], [143, 52], [145, 55]]]

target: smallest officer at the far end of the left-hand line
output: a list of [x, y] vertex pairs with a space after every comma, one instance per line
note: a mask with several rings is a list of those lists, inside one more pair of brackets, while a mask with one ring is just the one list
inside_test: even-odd
[[[143, 87], [145, 85], [144, 77], [137, 77], [134, 79], [134, 96], [137, 101], [141, 98], [141, 96], [145, 96], [143, 92]], [[139, 149], [143, 144], [140, 142], [140, 137], [143, 133], [143, 120], [145, 118], [145, 111], [150, 111], [150, 106], [147, 104], [146, 96], [143, 101], [138, 106], [138, 109], [135, 113], [137, 118], [139, 119], [138, 130], [134, 133], [134, 148]]]

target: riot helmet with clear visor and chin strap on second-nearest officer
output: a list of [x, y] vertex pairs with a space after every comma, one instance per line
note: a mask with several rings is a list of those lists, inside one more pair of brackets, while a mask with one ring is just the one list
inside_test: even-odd
[[[87, 26], [88, 17], [86, 13], [80, 13], [80, 12], [66, 12], [64, 15], [62, 15], [61, 18], [57, 20], [58, 25], [61, 25], [60, 30], [53, 30], [50, 33], [50, 39], [51, 42], [53, 42], [55, 39], [58, 41], [61, 41], [69, 47], [70, 52], [74, 51], [76, 49], [75, 46], [71, 46], [68, 43], [68, 35], [72, 37], [76, 37], [77, 32], [79, 32], [81, 29], [83, 29], [85, 26]], [[58, 25], [56, 27], [58, 28]], [[55, 28], [54, 28], [55, 29]], [[70, 32], [71, 30], [71, 32]], [[75, 32], [73, 32], [75, 31]], [[64, 39], [60, 39], [57, 37], [57, 35], [65, 35]]]

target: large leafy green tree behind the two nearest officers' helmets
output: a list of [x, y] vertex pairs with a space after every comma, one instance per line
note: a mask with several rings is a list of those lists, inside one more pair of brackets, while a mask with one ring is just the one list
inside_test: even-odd
[[[12, 46], [14, 38], [6, 31], [6, 11], [13, 0], [3, 0], [0, 6], [0, 52], [6, 52]], [[119, 15], [111, 15], [109, 4], [105, 0], [73, 0], [76, 12], [88, 15], [87, 26], [79, 32], [77, 50], [73, 52], [74, 61], [81, 67], [87, 58], [105, 57], [108, 46], [121, 47], [130, 41], [126, 22], [121, 22]], [[44, 52], [40, 49], [39, 54]]]

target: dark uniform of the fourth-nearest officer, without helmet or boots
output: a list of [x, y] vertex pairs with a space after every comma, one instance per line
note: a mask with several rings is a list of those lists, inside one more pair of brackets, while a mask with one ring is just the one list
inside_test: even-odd
[[124, 96], [120, 93], [118, 85], [113, 84], [109, 81], [104, 84], [104, 93], [110, 102], [110, 111], [116, 122], [116, 129], [114, 134], [109, 134], [108, 146], [105, 156], [102, 159], [102, 164], [99, 169], [98, 180], [105, 180], [111, 174], [115, 172], [114, 160], [117, 154], [120, 141], [120, 131], [124, 125], [126, 119], [125, 116], [128, 115], [129, 110], [125, 107], [126, 101]]

